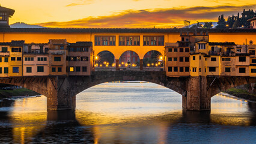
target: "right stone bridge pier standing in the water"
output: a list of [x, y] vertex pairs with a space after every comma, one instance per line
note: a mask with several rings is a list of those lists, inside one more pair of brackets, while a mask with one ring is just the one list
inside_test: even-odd
[[190, 77], [187, 92], [182, 95], [184, 110], [210, 110], [211, 96], [207, 95], [207, 78]]

